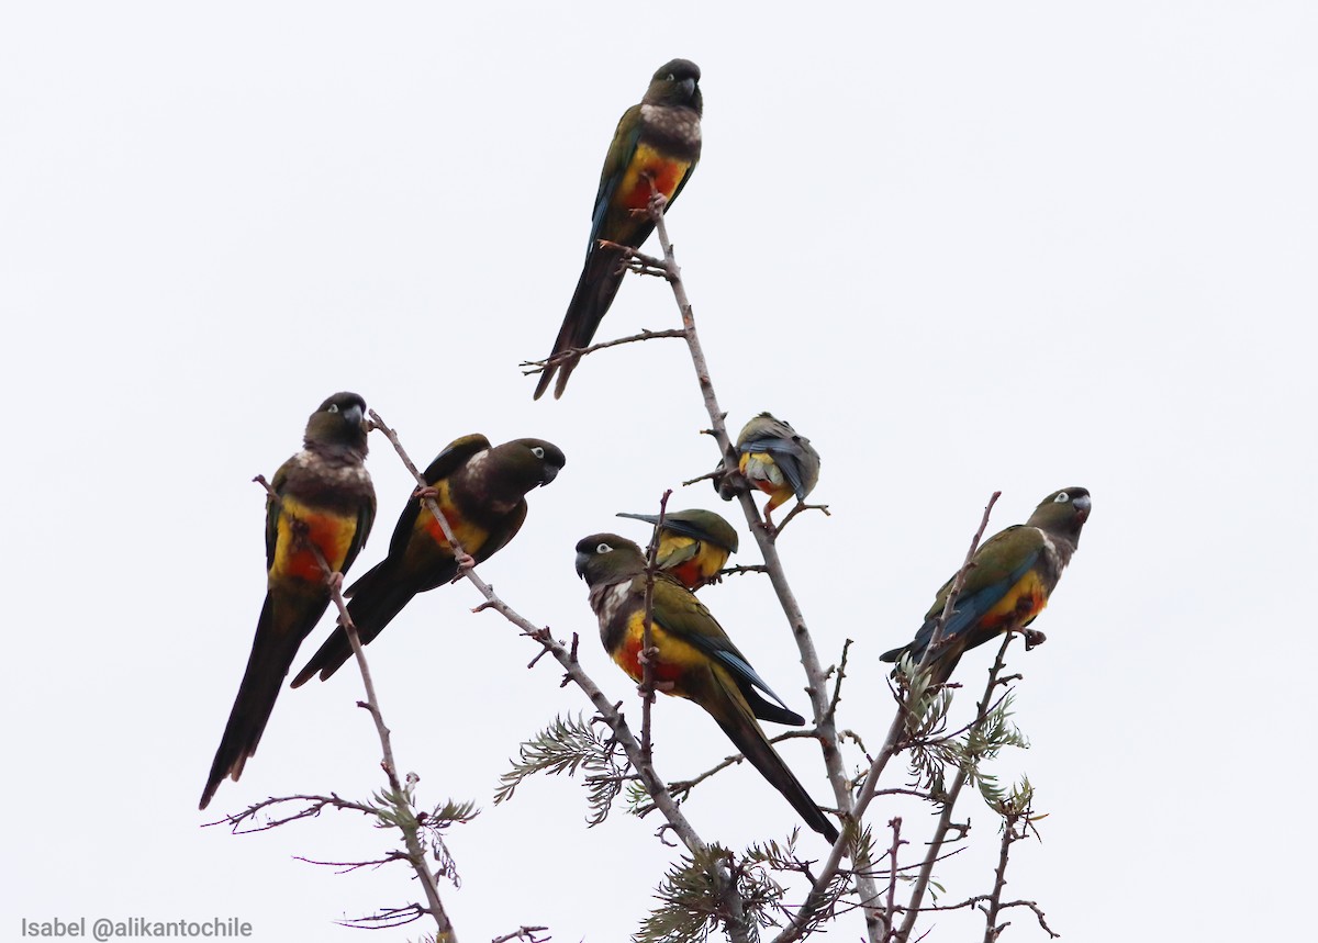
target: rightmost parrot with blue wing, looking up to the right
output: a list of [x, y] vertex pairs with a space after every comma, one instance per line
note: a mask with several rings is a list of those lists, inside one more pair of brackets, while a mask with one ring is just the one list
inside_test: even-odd
[[[965, 652], [1003, 632], [1025, 628], [1044, 611], [1048, 597], [1079, 544], [1079, 531], [1089, 520], [1089, 491], [1082, 487], [1053, 491], [1024, 524], [1014, 524], [985, 541], [971, 560], [966, 583], [931, 659], [934, 684], [944, 684], [952, 677]], [[909, 655], [919, 661], [924, 656], [948, 603], [953, 579], [938, 590], [915, 640], [884, 652], [880, 660], [896, 661]]]

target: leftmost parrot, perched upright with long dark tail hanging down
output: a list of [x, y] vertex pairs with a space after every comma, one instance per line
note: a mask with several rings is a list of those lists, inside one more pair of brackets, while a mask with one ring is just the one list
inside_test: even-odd
[[366, 402], [336, 392], [307, 420], [302, 450], [279, 466], [265, 506], [266, 594], [239, 695], [202, 792], [206, 809], [220, 780], [237, 781], [274, 710], [298, 645], [330, 606], [330, 569], [348, 572], [376, 519], [376, 491], [366, 474]]

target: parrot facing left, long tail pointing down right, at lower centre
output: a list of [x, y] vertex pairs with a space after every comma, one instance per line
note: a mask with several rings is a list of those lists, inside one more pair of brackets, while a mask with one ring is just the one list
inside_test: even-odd
[[[576, 545], [576, 569], [590, 587], [590, 608], [600, 620], [604, 647], [622, 670], [641, 681], [646, 593], [646, 561], [641, 548], [616, 533], [593, 533]], [[651, 612], [651, 639], [659, 649], [654, 662], [655, 687], [704, 707], [805, 823], [830, 843], [837, 842], [837, 828], [815, 805], [755, 720], [800, 727], [804, 718], [787, 709], [709, 610], [666, 573], [655, 576]], [[757, 687], [772, 698], [772, 703]]]

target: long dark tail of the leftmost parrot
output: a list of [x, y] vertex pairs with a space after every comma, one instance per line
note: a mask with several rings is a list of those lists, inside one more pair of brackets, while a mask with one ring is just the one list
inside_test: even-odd
[[274, 624], [270, 594], [266, 594], [246, 672], [233, 699], [233, 710], [229, 711], [229, 722], [224, 727], [224, 736], [220, 738], [220, 747], [215, 751], [199, 809], [210, 805], [225, 776], [236, 782], [248, 757], [256, 753], [261, 734], [265, 732], [265, 724], [274, 710], [275, 698], [279, 697], [279, 687], [283, 686], [283, 678], [287, 677], [293, 659], [298, 655], [298, 645], [315, 628], [330, 605], [326, 601], [316, 606], [314, 599], [307, 599], [306, 603], [298, 618], [281, 628]]

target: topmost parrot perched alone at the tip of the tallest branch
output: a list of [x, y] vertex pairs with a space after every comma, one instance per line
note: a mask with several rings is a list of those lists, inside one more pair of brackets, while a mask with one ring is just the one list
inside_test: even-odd
[[[671, 205], [687, 186], [700, 159], [700, 67], [673, 59], [654, 74], [641, 104], [623, 112], [600, 171], [585, 266], [551, 357], [590, 342], [622, 284], [622, 253], [600, 246], [598, 240], [639, 249], [654, 232], [654, 223], [635, 211], [645, 211], [652, 191], [668, 198]], [[555, 373], [559, 382], [554, 398], [561, 396], [576, 365], [572, 358], [544, 367], [535, 398], [550, 389]]]

